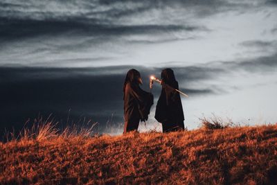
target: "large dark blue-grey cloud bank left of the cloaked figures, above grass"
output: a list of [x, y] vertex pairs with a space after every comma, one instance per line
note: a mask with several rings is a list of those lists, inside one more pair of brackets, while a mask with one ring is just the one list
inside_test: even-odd
[[69, 109], [73, 121], [87, 117], [102, 128], [114, 113], [114, 121], [122, 123], [123, 75], [87, 76], [80, 71], [1, 68], [1, 128], [18, 127], [39, 113], [53, 113], [64, 123]]

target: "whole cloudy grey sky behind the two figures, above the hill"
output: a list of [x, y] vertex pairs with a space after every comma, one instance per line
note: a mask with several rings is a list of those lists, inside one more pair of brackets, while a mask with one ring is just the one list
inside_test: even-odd
[[276, 0], [2, 0], [1, 128], [51, 113], [122, 125], [125, 73], [141, 71], [149, 90], [165, 67], [190, 96], [189, 129], [212, 114], [276, 123], [276, 20]]

